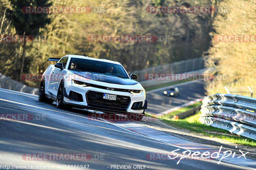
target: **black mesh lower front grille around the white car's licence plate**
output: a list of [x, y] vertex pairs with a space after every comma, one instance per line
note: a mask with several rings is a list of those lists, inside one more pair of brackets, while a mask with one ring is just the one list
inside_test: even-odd
[[131, 102], [131, 98], [128, 96], [116, 95], [116, 100], [108, 100], [103, 99], [103, 94], [102, 92], [88, 91], [86, 93], [88, 106], [126, 111]]

